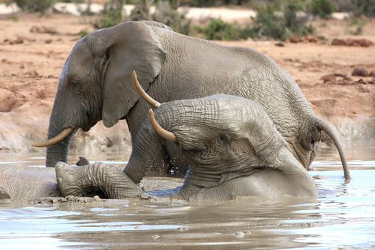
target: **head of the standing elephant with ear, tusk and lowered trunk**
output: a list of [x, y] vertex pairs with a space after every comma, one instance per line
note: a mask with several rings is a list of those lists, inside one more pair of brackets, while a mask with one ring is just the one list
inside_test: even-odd
[[101, 29], [82, 38], [59, 78], [49, 141], [34, 145], [47, 146], [46, 166], [66, 161], [77, 129], [89, 131], [100, 120], [110, 127], [124, 119], [139, 99], [131, 84], [131, 71], [141, 72], [143, 87], [148, 89], [164, 59], [154, 31], [141, 22]]

